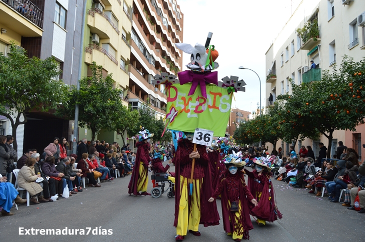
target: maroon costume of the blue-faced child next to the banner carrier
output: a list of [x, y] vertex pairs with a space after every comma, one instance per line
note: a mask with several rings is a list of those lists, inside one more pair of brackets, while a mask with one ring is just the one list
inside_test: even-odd
[[[246, 240], [249, 239], [248, 231], [253, 229], [247, 206], [248, 204], [251, 204], [250, 201], [253, 197], [244, 182], [243, 174], [244, 173], [238, 171], [236, 174], [232, 175], [226, 170], [220, 177], [219, 186], [215, 190], [212, 198], [216, 199], [220, 194], [224, 231], [226, 233], [233, 233], [233, 229], [238, 229], [237, 227], [241, 225], [243, 228], [243, 239]], [[235, 212], [230, 212], [228, 200], [230, 202], [240, 201], [242, 212], [239, 218], [235, 216]], [[235, 219], [239, 219], [240, 225], [235, 223]]]

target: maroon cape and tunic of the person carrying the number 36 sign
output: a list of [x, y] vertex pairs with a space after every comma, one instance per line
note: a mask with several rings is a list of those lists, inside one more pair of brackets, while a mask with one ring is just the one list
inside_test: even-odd
[[[193, 151], [194, 144], [187, 139], [179, 139], [178, 146], [175, 153], [175, 157], [172, 162], [175, 164], [175, 220], [173, 226], [177, 226], [178, 211], [180, 204], [180, 176], [190, 179], [192, 159], [189, 158], [189, 154]], [[216, 209], [215, 201], [212, 203], [208, 202], [208, 199], [213, 193], [211, 187], [211, 173], [208, 165], [208, 156], [206, 154], [205, 146], [196, 145], [196, 150], [200, 155], [199, 159], [195, 159], [193, 179], [200, 180], [200, 222], [199, 224], [207, 226], [219, 225], [219, 214]], [[202, 179], [203, 178], [203, 179]], [[203, 180], [201, 182], [201, 180]], [[193, 186], [196, 187], [196, 184]], [[188, 194], [189, 186], [187, 186]], [[189, 208], [191, 208], [190, 196], [189, 197]]]

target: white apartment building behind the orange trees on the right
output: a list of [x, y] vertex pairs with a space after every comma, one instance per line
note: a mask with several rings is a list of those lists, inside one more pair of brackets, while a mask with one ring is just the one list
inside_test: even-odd
[[[305, 23], [317, 27], [318, 35], [301, 38], [295, 31]], [[321, 79], [323, 70], [331, 70], [333, 65], [340, 64], [344, 55], [359, 61], [365, 54], [365, 2], [361, 0], [304, 0], [302, 1], [285, 26], [275, 38], [266, 52], [266, 106], [269, 94], [273, 101], [277, 95], [290, 94], [289, 79], [296, 84]], [[305, 36], [305, 35], [304, 35]], [[310, 68], [313, 60], [315, 68]], [[364, 125], [356, 127], [356, 132], [337, 130], [333, 134], [331, 155], [335, 154], [338, 141], [343, 141], [347, 147], [354, 148], [359, 154], [365, 151], [361, 144]], [[298, 140], [296, 152], [301, 145], [310, 145], [315, 156], [318, 156], [318, 143], [327, 146], [327, 139], [323, 136], [319, 140]], [[281, 143], [281, 144], [280, 144]], [[278, 141], [277, 147], [289, 151], [291, 144]], [[271, 144], [266, 144], [272, 146]], [[272, 147], [271, 147], [272, 148]], [[269, 148], [270, 149], [270, 148]]]

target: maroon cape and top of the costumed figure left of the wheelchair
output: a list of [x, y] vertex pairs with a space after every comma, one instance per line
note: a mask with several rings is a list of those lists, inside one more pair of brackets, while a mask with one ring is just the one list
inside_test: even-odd
[[132, 175], [129, 181], [128, 185], [128, 194], [137, 195], [137, 186], [138, 183], [143, 183], [144, 181], [140, 181], [139, 179], [139, 164], [142, 162], [143, 166], [145, 167], [144, 171], [146, 174], [146, 177], [148, 178], [148, 165], [150, 161], [150, 157], [148, 156], [148, 151], [150, 149], [149, 143], [137, 142], [135, 144], [135, 147], [137, 147], [137, 154], [135, 155], [135, 163], [134, 168], [132, 171]]

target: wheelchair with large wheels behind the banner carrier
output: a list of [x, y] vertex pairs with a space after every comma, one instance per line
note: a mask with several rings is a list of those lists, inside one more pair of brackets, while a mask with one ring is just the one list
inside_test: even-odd
[[[167, 198], [173, 198], [174, 192], [173, 188], [175, 186], [170, 180], [168, 180], [168, 173], [155, 173], [152, 172], [151, 180], [153, 188], [151, 190], [152, 198], [159, 198], [161, 194], [167, 192]], [[165, 190], [165, 186], [168, 184], [167, 189]]]

